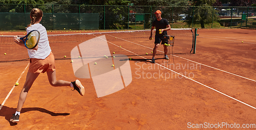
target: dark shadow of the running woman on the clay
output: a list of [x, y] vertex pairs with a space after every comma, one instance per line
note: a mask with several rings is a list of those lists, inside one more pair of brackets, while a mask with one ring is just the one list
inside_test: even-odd
[[[0, 106], [1, 106], [1, 104], [0, 104]], [[51, 112], [51, 111], [48, 111], [46, 109], [42, 109], [39, 107], [23, 108], [20, 113], [26, 113], [29, 111], [39, 111], [42, 113], [50, 114], [51, 116], [68, 116], [68, 115], [70, 115], [69, 113], [54, 113], [54, 112]], [[16, 125], [17, 123], [10, 122], [10, 118], [12, 117], [12, 114], [14, 114], [15, 112], [16, 112], [16, 108], [3, 106], [2, 109], [0, 110], [0, 116], [5, 117], [5, 119], [7, 121], [9, 121], [10, 125]]]

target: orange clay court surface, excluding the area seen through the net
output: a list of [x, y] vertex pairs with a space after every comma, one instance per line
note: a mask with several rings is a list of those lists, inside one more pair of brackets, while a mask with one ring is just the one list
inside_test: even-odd
[[[68, 86], [51, 86], [47, 74], [40, 74], [18, 123], [9, 120], [15, 113], [29, 61], [2, 62], [0, 103], [17, 80], [19, 85], [0, 110], [0, 128], [189, 129], [204, 124], [201, 129], [255, 129], [256, 30], [199, 29], [198, 34], [196, 54], [177, 54], [174, 61], [170, 56], [174, 64], [163, 62], [163, 55], [156, 56], [156, 64], [147, 60], [152, 55], [129, 57], [131, 84], [104, 97], [97, 98], [92, 79], [79, 79], [86, 88], [82, 97]], [[56, 74], [57, 79], [77, 79], [70, 60], [56, 60]]]

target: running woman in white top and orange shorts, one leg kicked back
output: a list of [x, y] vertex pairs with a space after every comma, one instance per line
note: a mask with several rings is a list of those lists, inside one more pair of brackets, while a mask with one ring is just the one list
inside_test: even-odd
[[[40, 40], [34, 49], [28, 49], [30, 65], [26, 82], [23, 86], [22, 92], [20, 92], [19, 95], [16, 113], [13, 114], [10, 119], [10, 121], [14, 123], [19, 122], [20, 111], [22, 110], [29, 89], [40, 73], [47, 72], [48, 80], [52, 86], [71, 86], [71, 88], [78, 91], [80, 95], [83, 96], [85, 93], [84, 87], [79, 80], [74, 82], [56, 80], [55, 60], [49, 46], [47, 31], [44, 26], [39, 24], [42, 19], [42, 11], [37, 8], [32, 9], [30, 12], [30, 18], [31, 24], [27, 27], [27, 33], [32, 30], [38, 30], [40, 32]], [[18, 40], [17, 36], [14, 36], [14, 41], [18, 45], [25, 47], [24, 42], [22, 40]]]

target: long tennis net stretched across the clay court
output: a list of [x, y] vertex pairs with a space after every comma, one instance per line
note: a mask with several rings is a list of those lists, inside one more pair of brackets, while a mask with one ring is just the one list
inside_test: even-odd
[[[57, 34], [48, 35], [50, 47], [55, 59], [71, 59], [71, 51], [83, 42], [91, 41], [94, 38], [92, 46], [100, 48], [102, 40], [108, 43], [110, 53], [123, 54], [126, 56], [152, 55], [154, 48], [154, 39], [149, 40], [151, 30], [136, 31], [115, 31], [115, 32], [97, 32], [97, 33], [79, 33], [79, 34]], [[173, 54], [194, 53], [194, 32], [192, 29], [171, 29], [167, 31], [168, 35], [175, 36]], [[155, 31], [153, 32], [153, 35]], [[155, 38], [153, 36], [153, 38]], [[84, 47], [86, 48], [86, 47]], [[82, 48], [80, 48], [80, 51]], [[13, 36], [0, 36], [0, 62], [28, 60], [27, 49], [15, 44]], [[88, 49], [86, 49], [88, 50]], [[95, 53], [101, 50], [96, 49]], [[159, 46], [157, 54], [163, 54], [163, 46]], [[66, 57], [65, 57], [66, 56]]]

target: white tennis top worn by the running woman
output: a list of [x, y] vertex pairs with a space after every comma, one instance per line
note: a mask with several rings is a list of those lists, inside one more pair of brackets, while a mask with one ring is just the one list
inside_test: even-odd
[[37, 45], [37, 50], [28, 49], [29, 57], [45, 59], [47, 56], [50, 55], [52, 51], [49, 45], [46, 28], [41, 24], [34, 24], [27, 28], [27, 34], [32, 30], [37, 30], [40, 32], [40, 39]]

